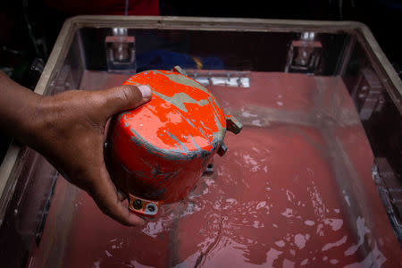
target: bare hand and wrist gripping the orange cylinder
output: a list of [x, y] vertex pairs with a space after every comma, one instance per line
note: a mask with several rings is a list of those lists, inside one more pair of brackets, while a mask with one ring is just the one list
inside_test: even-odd
[[40, 96], [0, 71], [0, 96], [1, 130], [44, 155], [114, 220], [124, 225], [144, 223], [130, 213], [116, 190], [105, 167], [104, 143], [109, 118], [149, 101], [150, 88], [120, 86]]

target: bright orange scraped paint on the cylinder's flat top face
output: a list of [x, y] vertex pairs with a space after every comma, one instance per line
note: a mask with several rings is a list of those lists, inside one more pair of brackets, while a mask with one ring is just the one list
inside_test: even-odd
[[[177, 83], [166, 75], [181, 76], [173, 71], [144, 71], [130, 78], [124, 84], [148, 85], [155, 93], [168, 97], [178, 93], [187, 94], [196, 101], [204, 101], [211, 97], [209, 90], [202, 85], [200, 87], [205, 88], [208, 92]], [[208, 102], [207, 105], [184, 103], [186, 112], [155, 93], [147, 105], [130, 111], [130, 113], [125, 113], [121, 118], [121, 123], [128, 124], [127, 128], [136, 130], [141, 137], [146, 138], [155, 147], [168, 150], [180, 147], [180, 144], [167, 134], [169, 131], [189, 151], [197, 150], [195, 143], [198, 147], [211, 151], [213, 149], [213, 133], [219, 131], [214, 121], [214, 113], [211, 111], [217, 111], [218, 119], [224, 127], [225, 119], [221, 108], [214, 101]], [[189, 135], [194, 138], [195, 142], [188, 138]]]

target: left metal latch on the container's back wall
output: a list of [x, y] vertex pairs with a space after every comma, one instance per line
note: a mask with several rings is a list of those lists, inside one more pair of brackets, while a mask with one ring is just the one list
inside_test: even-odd
[[135, 38], [126, 28], [113, 28], [112, 36], [105, 38], [107, 70], [112, 72], [137, 71]]

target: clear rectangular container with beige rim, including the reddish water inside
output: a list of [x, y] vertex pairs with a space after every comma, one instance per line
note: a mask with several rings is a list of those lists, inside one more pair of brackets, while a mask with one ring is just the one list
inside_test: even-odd
[[[135, 46], [114, 46], [116, 28]], [[112, 66], [112, 53], [134, 55], [135, 67]], [[80, 16], [65, 22], [36, 91], [105, 89], [175, 65], [244, 124], [236, 138], [227, 134], [230, 150], [214, 157], [214, 172], [188, 198], [128, 228], [41, 155], [13, 144], [0, 168], [2, 264], [402, 265], [402, 83], [369, 29]]]

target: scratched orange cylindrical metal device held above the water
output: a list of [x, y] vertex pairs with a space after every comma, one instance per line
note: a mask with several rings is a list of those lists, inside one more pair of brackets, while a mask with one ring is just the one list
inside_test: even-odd
[[226, 116], [214, 95], [180, 67], [143, 71], [125, 85], [147, 85], [152, 99], [113, 118], [106, 163], [130, 210], [154, 216], [159, 206], [186, 197], [216, 152], [226, 130], [241, 124]]

